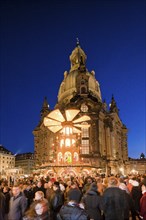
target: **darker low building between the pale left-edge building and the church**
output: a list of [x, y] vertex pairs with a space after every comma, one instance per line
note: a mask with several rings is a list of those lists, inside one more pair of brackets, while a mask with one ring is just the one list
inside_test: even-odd
[[17, 154], [15, 166], [23, 169], [23, 175], [30, 175], [34, 169], [34, 154], [30, 152]]

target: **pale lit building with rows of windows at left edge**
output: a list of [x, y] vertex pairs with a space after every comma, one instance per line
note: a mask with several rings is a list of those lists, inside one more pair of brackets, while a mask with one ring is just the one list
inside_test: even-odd
[[0, 145], [0, 177], [5, 177], [6, 171], [15, 167], [15, 156]]

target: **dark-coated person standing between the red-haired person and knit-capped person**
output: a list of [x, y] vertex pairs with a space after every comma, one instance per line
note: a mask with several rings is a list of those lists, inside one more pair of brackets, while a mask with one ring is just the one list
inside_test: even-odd
[[59, 182], [55, 181], [53, 184], [53, 193], [50, 197], [49, 208], [51, 220], [57, 219], [57, 213], [64, 204], [64, 194], [60, 190]]

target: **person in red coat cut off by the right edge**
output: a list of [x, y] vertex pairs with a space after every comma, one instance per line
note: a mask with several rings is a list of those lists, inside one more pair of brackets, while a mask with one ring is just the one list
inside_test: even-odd
[[141, 219], [146, 220], [146, 177], [142, 181], [141, 185], [142, 197], [140, 199], [140, 213]]

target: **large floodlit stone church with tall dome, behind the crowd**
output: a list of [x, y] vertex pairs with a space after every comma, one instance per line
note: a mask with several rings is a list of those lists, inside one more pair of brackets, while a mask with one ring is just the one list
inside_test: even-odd
[[95, 71], [77, 41], [69, 56], [54, 110], [44, 99], [40, 121], [33, 131], [35, 167], [58, 174], [98, 172], [127, 174], [128, 130], [114, 96], [102, 100]]

